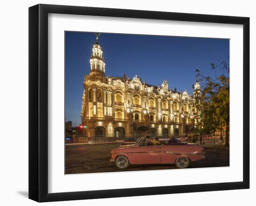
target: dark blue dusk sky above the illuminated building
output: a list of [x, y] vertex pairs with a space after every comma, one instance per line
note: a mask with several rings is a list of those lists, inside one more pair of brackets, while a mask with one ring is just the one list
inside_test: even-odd
[[[65, 33], [65, 118], [73, 126], [81, 123], [83, 81], [95, 39], [94, 33]], [[211, 63], [229, 63], [227, 39], [101, 33], [99, 44], [106, 76], [137, 74], [152, 85], [166, 79], [169, 88], [188, 93], [193, 93], [195, 69], [212, 76]]]

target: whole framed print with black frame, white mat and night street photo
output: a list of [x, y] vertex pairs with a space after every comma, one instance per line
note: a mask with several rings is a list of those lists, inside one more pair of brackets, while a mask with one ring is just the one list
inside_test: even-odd
[[29, 198], [249, 188], [249, 18], [29, 8]]

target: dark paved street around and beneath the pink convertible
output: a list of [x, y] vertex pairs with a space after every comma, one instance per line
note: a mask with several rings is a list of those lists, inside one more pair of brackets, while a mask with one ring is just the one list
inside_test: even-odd
[[[125, 170], [119, 170], [110, 163], [111, 149], [116, 143], [96, 145], [66, 145], [66, 174], [102, 173], [138, 170], [176, 169], [175, 165], [130, 165]], [[208, 159], [192, 162], [189, 168], [229, 166], [229, 149], [218, 146], [215, 149], [205, 146]]]

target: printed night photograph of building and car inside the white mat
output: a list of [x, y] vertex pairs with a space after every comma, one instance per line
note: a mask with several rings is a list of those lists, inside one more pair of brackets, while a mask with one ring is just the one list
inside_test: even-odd
[[229, 166], [229, 39], [65, 31], [64, 139], [65, 174]]

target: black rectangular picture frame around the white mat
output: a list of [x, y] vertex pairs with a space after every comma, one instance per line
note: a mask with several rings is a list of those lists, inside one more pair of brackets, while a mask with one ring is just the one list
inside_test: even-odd
[[[48, 13], [243, 25], [243, 181], [48, 193]], [[239, 137], [241, 138], [241, 137]], [[39, 4], [29, 8], [29, 199], [38, 202], [249, 188], [249, 18]]]

